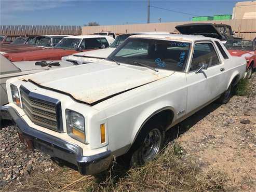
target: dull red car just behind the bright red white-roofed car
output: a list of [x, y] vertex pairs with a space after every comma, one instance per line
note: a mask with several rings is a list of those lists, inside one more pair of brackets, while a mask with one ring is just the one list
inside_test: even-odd
[[[42, 50], [55, 46], [59, 41], [68, 35], [39, 35], [33, 39], [30, 39], [25, 44], [15, 44], [15, 41], [8, 45], [0, 46], [0, 53], [4, 54], [5, 57], [9, 53], [18, 53], [34, 50]], [[19, 38], [19, 37], [18, 37]]]

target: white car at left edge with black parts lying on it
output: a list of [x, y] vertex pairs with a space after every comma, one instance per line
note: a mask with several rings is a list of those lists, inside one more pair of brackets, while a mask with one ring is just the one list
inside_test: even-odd
[[37, 61], [21, 61], [12, 63], [0, 54], [0, 105], [8, 103], [5, 82], [7, 79], [21, 75], [28, 75], [47, 70], [54, 70], [60, 67], [73, 66], [71, 62], [65, 61], [52, 61], [51, 63], [58, 62], [60, 65], [50, 65], [49, 62], [45, 66], [35, 65]]

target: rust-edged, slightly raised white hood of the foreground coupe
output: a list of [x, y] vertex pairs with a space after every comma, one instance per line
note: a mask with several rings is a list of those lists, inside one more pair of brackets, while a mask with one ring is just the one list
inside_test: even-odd
[[59, 91], [77, 101], [93, 105], [106, 98], [167, 77], [174, 72], [166, 70], [155, 72], [145, 67], [117, 65], [104, 60], [43, 73], [39, 76], [32, 74], [19, 79], [32, 81], [39, 87]]

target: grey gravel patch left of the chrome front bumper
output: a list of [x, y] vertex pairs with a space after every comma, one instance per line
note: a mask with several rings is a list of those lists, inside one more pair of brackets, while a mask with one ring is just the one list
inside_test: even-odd
[[0, 129], [0, 145], [0, 188], [29, 176], [36, 164], [51, 163], [47, 155], [26, 149], [14, 126]]

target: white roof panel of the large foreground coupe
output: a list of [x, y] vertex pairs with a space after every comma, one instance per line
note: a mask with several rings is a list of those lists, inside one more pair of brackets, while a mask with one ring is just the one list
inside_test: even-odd
[[178, 41], [187, 41], [195, 42], [197, 40], [219, 40], [216, 38], [205, 37], [201, 35], [181, 35], [181, 34], [143, 34], [143, 35], [132, 35], [128, 38], [152, 38], [152, 39], [161, 39], [161, 40], [178, 40]]

